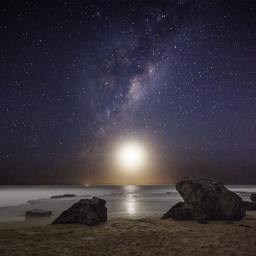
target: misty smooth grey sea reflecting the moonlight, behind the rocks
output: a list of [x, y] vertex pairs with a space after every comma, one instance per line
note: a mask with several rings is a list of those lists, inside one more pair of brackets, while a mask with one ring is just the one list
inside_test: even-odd
[[[243, 200], [250, 201], [256, 185], [227, 185]], [[50, 196], [76, 194], [53, 199]], [[161, 216], [182, 197], [168, 186], [0, 186], [0, 222], [25, 221], [26, 210], [51, 210], [54, 219], [81, 198], [98, 196], [107, 201], [108, 217]], [[29, 201], [29, 202], [28, 202]]]

